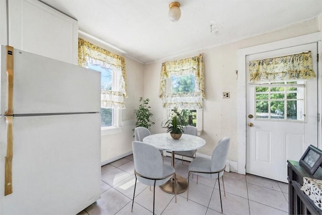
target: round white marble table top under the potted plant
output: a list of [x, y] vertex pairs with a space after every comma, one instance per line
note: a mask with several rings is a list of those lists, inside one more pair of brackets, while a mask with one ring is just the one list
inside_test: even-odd
[[160, 150], [188, 151], [196, 150], [206, 144], [206, 140], [199, 136], [182, 134], [180, 139], [173, 139], [170, 133], [157, 133], [146, 136], [143, 142], [150, 144]]

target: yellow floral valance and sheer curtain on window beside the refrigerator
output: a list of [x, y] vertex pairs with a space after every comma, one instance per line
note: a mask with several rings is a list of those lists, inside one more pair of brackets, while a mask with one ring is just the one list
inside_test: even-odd
[[117, 80], [115, 88], [101, 90], [101, 107], [125, 109], [124, 99], [127, 98], [127, 91], [124, 57], [78, 38], [78, 64], [89, 67], [89, 63], [110, 68], [117, 77], [114, 79]]

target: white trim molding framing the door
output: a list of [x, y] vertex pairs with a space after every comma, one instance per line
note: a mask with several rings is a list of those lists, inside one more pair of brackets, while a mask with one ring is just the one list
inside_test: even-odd
[[[238, 82], [237, 82], [237, 142], [238, 142], [238, 169], [239, 174], [246, 174], [246, 56], [251, 54], [258, 54], [266, 51], [273, 51], [282, 48], [288, 48], [297, 45], [317, 42], [320, 44], [322, 38], [321, 32], [316, 32], [304, 36], [294, 37], [290, 39], [280, 40], [272, 43], [252, 46], [248, 48], [239, 49], [237, 51], [238, 58]], [[320, 53], [320, 45], [317, 47], [317, 53]], [[321, 56], [321, 54], [319, 54]], [[316, 59], [315, 57], [313, 59]], [[317, 81], [318, 86], [321, 86], [321, 60], [317, 63]], [[318, 89], [321, 92], [321, 89]], [[318, 111], [322, 112], [322, 97], [318, 93]], [[321, 127], [321, 121], [318, 127]], [[318, 129], [319, 131], [320, 129]], [[321, 149], [321, 132], [318, 132], [317, 146]]]

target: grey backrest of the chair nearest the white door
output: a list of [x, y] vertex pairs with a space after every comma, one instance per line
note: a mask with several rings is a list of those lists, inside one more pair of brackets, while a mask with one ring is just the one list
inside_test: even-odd
[[213, 149], [211, 156], [211, 171], [219, 171], [226, 165], [229, 142], [229, 137], [223, 137], [218, 141], [217, 146]]

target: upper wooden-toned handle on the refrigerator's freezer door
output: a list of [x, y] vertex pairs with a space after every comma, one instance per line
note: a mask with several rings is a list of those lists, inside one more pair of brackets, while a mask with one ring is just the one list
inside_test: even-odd
[[6, 74], [7, 74], [7, 110], [5, 115], [13, 115], [14, 99], [14, 47], [6, 46]]

